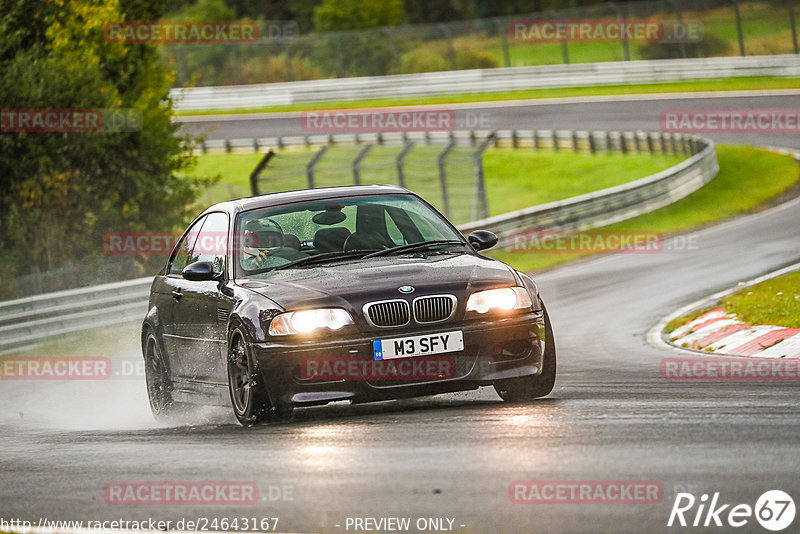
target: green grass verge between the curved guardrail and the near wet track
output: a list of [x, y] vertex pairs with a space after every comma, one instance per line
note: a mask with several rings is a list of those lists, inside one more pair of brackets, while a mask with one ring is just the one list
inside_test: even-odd
[[[790, 156], [734, 145], [717, 145], [717, 156], [719, 174], [700, 190], [664, 208], [603, 227], [603, 231], [662, 234], [685, 231], [754, 211], [759, 205], [786, 191], [798, 179], [797, 163]], [[498, 249], [491, 255], [521, 271], [530, 272], [590, 254], [547, 254]]]

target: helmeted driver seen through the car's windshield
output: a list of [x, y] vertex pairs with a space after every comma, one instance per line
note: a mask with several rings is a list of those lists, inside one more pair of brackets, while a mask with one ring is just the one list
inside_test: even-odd
[[307, 255], [284, 246], [283, 230], [272, 219], [253, 219], [244, 224], [240, 264], [256, 271], [277, 267]]

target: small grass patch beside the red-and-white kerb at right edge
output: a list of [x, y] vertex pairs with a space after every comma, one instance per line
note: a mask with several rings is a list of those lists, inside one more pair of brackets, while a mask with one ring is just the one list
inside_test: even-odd
[[746, 323], [800, 328], [800, 271], [743, 289], [720, 305]]

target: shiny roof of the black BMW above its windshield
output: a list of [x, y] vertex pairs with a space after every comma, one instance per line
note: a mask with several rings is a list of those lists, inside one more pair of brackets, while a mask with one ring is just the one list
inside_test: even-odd
[[238, 213], [255, 208], [280, 206], [291, 202], [304, 202], [307, 200], [325, 200], [329, 198], [342, 198], [361, 195], [380, 195], [386, 193], [411, 193], [405, 187], [397, 185], [352, 185], [346, 187], [324, 187], [320, 189], [301, 189], [298, 191], [285, 191], [283, 193], [270, 193], [257, 197], [240, 198], [220, 202], [206, 209], [209, 211], [227, 211]]

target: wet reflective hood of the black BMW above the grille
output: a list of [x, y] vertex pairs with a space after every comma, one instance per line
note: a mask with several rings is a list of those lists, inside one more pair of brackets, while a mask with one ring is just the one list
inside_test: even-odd
[[[520, 285], [502, 262], [468, 253], [387, 256], [265, 273], [237, 280], [285, 310], [341, 306], [360, 309], [367, 302], [420, 295], [453, 294], [459, 302], [480, 289]], [[414, 291], [403, 294], [401, 286]]]

